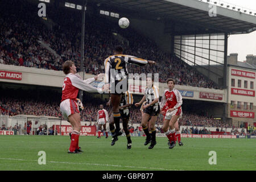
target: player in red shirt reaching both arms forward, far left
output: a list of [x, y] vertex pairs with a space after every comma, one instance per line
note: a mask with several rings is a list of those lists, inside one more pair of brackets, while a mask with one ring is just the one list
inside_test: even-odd
[[[77, 101], [77, 94], [79, 93], [79, 89], [84, 90], [86, 92], [102, 92], [101, 89], [98, 89], [92, 85], [90, 82], [97, 80], [104, 76], [104, 74], [100, 74], [94, 78], [89, 78], [87, 80], [81, 80], [81, 77], [77, 75], [75, 64], [68, 60], [63, 64], [63, 72], [65, 73], [65, 78], [62, 87], [62, 97], [60, 103], [60, 110], [63, 114], [64, 119], [67, 119], [68, 122], [72, 125], [71, 132], [71, 144], [68, 150], [69, 154], [79, 153], [81, 152], [79, 147], [79, 135], [81, 130], [81, 122], [80, 122], [80, 111], [79, 107], [82, 108], [82, 102], [79, 104]], [[102, 89], [104, 86], [102, 87]], [[105, 85], [105, 89], [108, 89], [108, 86]]]

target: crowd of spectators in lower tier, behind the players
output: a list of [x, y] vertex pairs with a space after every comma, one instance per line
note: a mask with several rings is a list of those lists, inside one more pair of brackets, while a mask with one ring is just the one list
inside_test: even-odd
[[[60, 112], [59, 102], [52, 101], [51, 103], [46, 101], [38, 101], [34, 99], [26, 98], [11, 98], [11, 97], [0, 97], [0, 109], [3, 115], [47, 115], [53, 117], [63, 118]], [[105, 101], [106, 103], [107, 101]], [[86, 97], [84, 102], [85, 109], [81, 111], [82, 121], [96, 122], [97, 111], [100, 109], [100, 104], [102, 101], [100, 98], [90, 98]], [[110, 107], [105, 106], [106, 110], [110, 112]], [[109, 113], [110, 115], [110, 113]], [[132, 106], [130, 108], [130, 121], [129, 123], [141, 123], [142, 114], [139, 107]], [[159, 114], [156, 125], [163, 124], [163, 115]], [[205, 126], [205, 127], [232, 127], [227, 123], [218, 121], [213, 118], [197, 115], [183, 113], [183, 117], [179, 119], [179, 125], [181, 126]]]

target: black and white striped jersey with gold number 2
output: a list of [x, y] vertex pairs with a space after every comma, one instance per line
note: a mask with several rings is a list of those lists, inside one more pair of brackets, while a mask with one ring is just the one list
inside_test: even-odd
[[127, 78], [127, 64], [136, 64], [139, 66], [146, 65], [148, 63], [147, 60], [140, 59], [135, 56], [129, 55], [113, 55], [109, 56], [104, 61], [105, 67], [105, 83], [114, 82], [115, 80], [121, 81], [124, 78]]

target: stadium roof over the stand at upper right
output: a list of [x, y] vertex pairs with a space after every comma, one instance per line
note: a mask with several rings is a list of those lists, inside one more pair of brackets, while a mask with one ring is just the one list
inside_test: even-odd
[[170, 24], [171, 21], [178, 22], [176, 26], [182, 27], [177, 30], [183, 32], [172, 31], [175, 35], [195, 34], [195, 32], [245, 34], [256, 30], [254, 15], [256, 12], [250, 11], [250, 14], [247, 14], [245, 10], [243, 12], [236, 8], [233, 10], [233, 7], [228, 9], [221, 4], [222, 6], [216, 6], [217, 16], [210, 17], [209, 10], [212, 6], [209, 6], [207, 0], [89, 0], [88, 2], [117, 10], [127, 9], [130, 14], [144, 14], [155, 20], [164, 19], [167, 23], [170, 21]]

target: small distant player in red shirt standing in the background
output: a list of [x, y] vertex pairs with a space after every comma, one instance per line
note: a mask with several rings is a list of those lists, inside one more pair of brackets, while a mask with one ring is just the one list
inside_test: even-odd
[[109, 137], [108, 132], [106, 131], [106, 122], [109, 122], [109, 114], [108, 114], [108, 111], [106, 111], [106, 109], [103, 109], [103, 105], [101, 104], [100, 110], [98, 110], [98, 113], [97, 113], [97, 123], [98, 123], [98, 137], [97, 138], [101, 138], [101, 132], [103, 133], [103, 131], [101, 131], [102, 126], [105, 131], [106, 138]]

